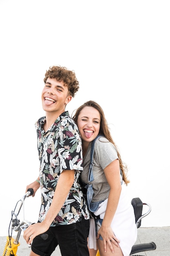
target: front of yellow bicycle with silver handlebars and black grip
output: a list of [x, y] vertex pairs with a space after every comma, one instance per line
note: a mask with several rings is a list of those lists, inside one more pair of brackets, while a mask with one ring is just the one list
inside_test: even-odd
[[[11, 230], [11, 234], [8, 234], [7, 236], [7, 240], [4, 245], [2, 256], [17, 256], [16, 253], [18, 250], [18, 246], [20, 245], [19, 239], [20, 239], [21, 231], [24, 231], [27, 227], [29, 227], [29, 225], [33, 224], [28, 220], [25, 220], [24, 218], [24, 200], [30, 195], [33, 195], [33, 189], [28, 189], [28, 191], [24, 194], [22, 199], [16, 203], [14, 211], [12, 211], [12, 216], [11, 216], [11, 221], [9, 223], [9, 231], [8, 231], [8, 233], [10, 233], [10, 230]], [[20, 201], [21, 203], [18, 207], [18, 210], [16, 210], [16, 207]], [[20, 222], [20, 220], [18, 219], [18, 216], [22, 207], [23, 207], [23, 220], [22, 222]], [[15, 239], [12, 237], [13, 230], [17, 232]], [[48, 234], [45, 234], [45, 233], [39, 236], [41, 236], [42, 239], [44, 240], [48, 238]], [[31, 247], [31, 245], [28, 245], [28, 246]]]

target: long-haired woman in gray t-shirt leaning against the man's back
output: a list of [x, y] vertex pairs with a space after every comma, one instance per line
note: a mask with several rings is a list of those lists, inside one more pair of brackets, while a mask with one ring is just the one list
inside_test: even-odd
[[[80, 106], [73, 116], [83, 146], [82, 182], [92, 184], [93, 197], [89, 202], [92, 216], [97, 216], [95, 229], [97, 247], [100, 256], [129, 256], [132, 246], [137, 239], [134, 210], [126, 196], [127, 166], [122, 162], [119, 151], [110, 135], [107, 121], [102, 108], [95, 101], [87, 101]], [[93, 156], [93, 181], [88, 180], [91, 162], [91, 145], [97, 135], [102, 135], [95, 141]], [[88, 240], [91, 239], [89, 234]], [[89, 248], [91, 246], [88, 241]], [[92, 254], [92, 250], [90, 255]]]

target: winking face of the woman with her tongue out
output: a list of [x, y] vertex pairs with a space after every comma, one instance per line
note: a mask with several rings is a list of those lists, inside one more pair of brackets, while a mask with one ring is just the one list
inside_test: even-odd
[[99, 134], [100, 114], [93, 107], [84, 107], [79, 113], [77, 126], [83, 141], [91, 142]]

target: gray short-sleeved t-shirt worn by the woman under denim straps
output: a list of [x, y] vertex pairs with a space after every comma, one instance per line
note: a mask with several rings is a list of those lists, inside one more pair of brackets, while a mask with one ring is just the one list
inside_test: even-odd
[[[88, 184], [88, 171], [90, 166], [91, 143], [88, 145], [87, 153], [83, 158], [83, 171], [81, 173], [82, 181]], [[104, 168], [115, 159], [118, 159], [117, 151], [112, 143], [105, 137], [99, 137], [95, 141], [93, 155], [93, 199], [92, 202], [106, 200], [110, 191], [110, 186], [104, 174]], [[121, 175], [120, 175], [121, 182]]]

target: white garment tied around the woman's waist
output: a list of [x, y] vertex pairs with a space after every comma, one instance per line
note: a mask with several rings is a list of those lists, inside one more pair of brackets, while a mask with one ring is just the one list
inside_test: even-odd
[[[99, 205], [95, 215], [100, 215], [100, 218], [103, 219], [107, 206], [107, 199]], [[98, 225], [97, 225], [98, 227]], [[129, 256], [132, 246], [137, 239], [137, 226], [135, 223], [135, 214], [132, 207], [131, 201], [127, 197], [126, 185], [122, 184], [121, 195], [119, 198], [119, 203], [117, 210], [111, 222], [111, 227], [115, 236], [119, 239], [119, 246], [121, 248], [124, 256]], [[98, 227], [99, 229], [100, 227]], [[89, 248], [96, 249], [96, 239], [94, 238], [94, 219], [91, 219], [90, 222], [90, 231], [88, 237], [88, 246]], [[93, 235], [92, 235], [93, 233]], [[93, 236], [93, 238], [92, 238]]]

